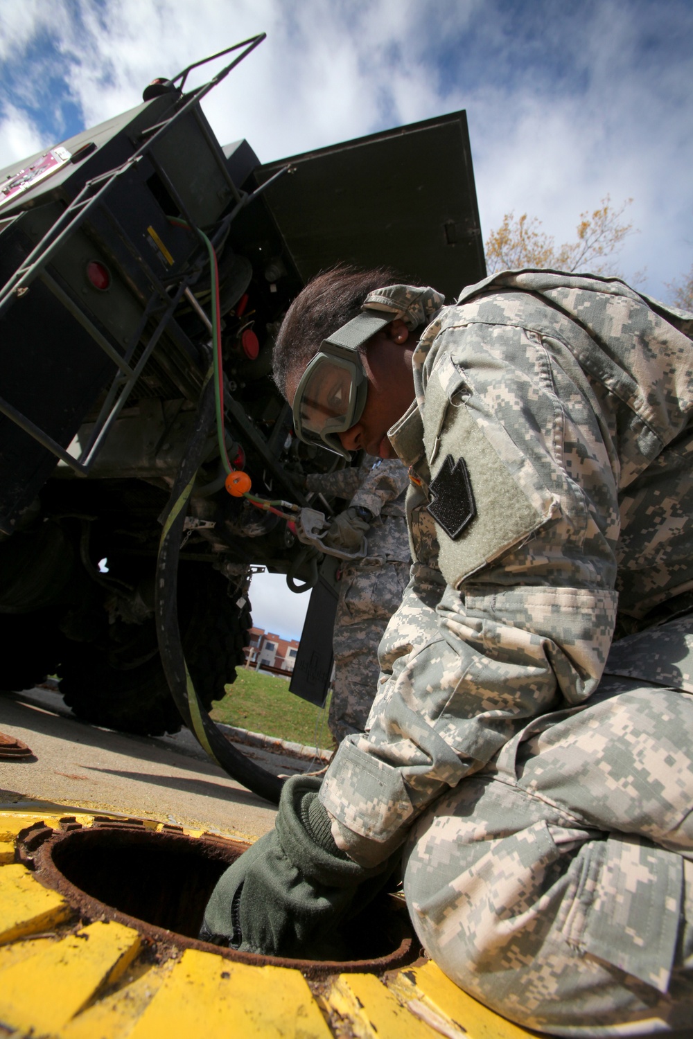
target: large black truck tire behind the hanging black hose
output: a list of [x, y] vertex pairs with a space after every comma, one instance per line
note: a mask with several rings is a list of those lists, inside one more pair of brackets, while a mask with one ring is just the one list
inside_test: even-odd
[[[244, 663], [250, 610], [247, 603], [239, 608], [229, 597], [229, 584], [220, 574], [203, 565], [191, 569], [194, 576], [181, 568], [180, 624], [190, 675], [209, 710]], [[70, 642], [59, 668], [60, 691], [77, 717], [92, 724], [138, 736], [178, 732], [181, 716], [161, 665], [154, 620], [137, 627], [143, 631], [135, 659], [121, 659], [119, 666], [109, 661], [108, 634], [96, 642]], [[149, 659], [138, 663], [137, 654], [146, 656], [141, 652], [143, 642], [151, 650]]]

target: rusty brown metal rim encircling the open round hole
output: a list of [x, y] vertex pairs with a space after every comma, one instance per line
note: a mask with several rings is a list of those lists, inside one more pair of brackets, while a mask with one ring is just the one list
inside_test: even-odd
[[[129, 820], [129, 822], [139, 823], [139, 820]], [[145, 829], [141, 824], [133, 826], [115, 821], [112, 825], [109, 825], [109, 822], [106, 821], [99, 822], [96, 827], [83, 827], [80, 824], [70, 823], [66, 828], [61, 828], [60, 830], [52, 830], [46, 827], [47, 832], [44, 832], [44, 829], [39, 828], [38, 825], [32, 826], [27, 831], [22, 831], [19, 834], [19, 846], [22, 845], [24, 837], [33, 837], [33, 840], [29, 840], [29, 857], [31, 858], [31, 865], [35, 870], [36, 878], [42, 884], [62, 895], [73, 909], [76, 909], [82, 916], [88, 920], [112, 920], [127, 927], [132, 927], [144, 937], [149, 944], [161, 947], [161, 952], [170, 954], [172, 949], [196, 949], [202, 952], [214, 953], [216, 956], [222, 956], [228, 960], [235, 960], [252, 966], [289, 967], [294, 970], [300, 970], [305, 978], [312, 980], [319, 980], [335, 974], [368, 973], [380, 975], [388, 970], [409, 965], [420, 955], [406, 911], [399, 904], [399, 900], [394, 897], [392, 898], [392, 922], [396, 931], [397, 948], [384, 956], [365, 960], [301, 960], [278, 956], [260, 956], [255, 953], [243, 953], [223, 945], [201, 941], [197, 938], [190, 938], [176, 931], [158, 927], [156, 924], [150, 924], [87, 895], [86, 891], [73, 884], [53, 861], [53, 850], [56, 846], [62, 844], [64, 841], [70, 841], [80, 832], [94, 833], [95, 830], [116, 831], [127, 836], [132, 836], [135, 841], [141, 841], [141, 843], [154, 843], [156, 841], [157, 844], [161, 844], [164, 841], [169, 846], [172, 845], [174, 847], [178, 846], [179, 848], [185, 847], [188, 849], [194, 848], [195, 850], [199, 848], [201, 844], [204, 844], [207, 849], [216, 852], [215, 855], [211, 855], [210, 857], [220, 858], [229, 862], [229, 864], [246, 851], [250, 845], [228, 837], [208, 837], [205, 835], [191, 837], [184, 833], [157, 832]], [[26, 847], [27, 845], [25, 845]], [[27, 856], [25, 855], [23, 858], [26, 861]], [[27, 864], [29, 863], [27, 862]]]

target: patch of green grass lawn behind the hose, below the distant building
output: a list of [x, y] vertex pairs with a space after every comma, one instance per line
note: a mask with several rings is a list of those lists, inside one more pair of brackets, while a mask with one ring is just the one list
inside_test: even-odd
[[275, 674], [239, 667], [236, 682], [214, 704], [212, 718], [226, 725], [249, 728], [309, 747], [331, 747], [327, 710], [314, 707], [289, 692], [289, 683]]

